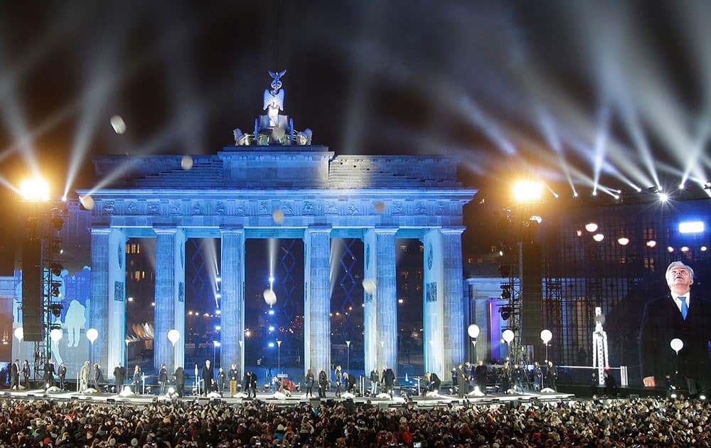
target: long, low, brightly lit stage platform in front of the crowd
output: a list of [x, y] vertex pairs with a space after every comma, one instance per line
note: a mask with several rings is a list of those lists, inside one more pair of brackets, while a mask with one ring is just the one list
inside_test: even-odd
[[[118, 395], [115, 393], [78, 393], [78, 392], [62, 392], [62, 391], [45, 391], [43, 389], [36, 390], [4, 390], [0, 393], [2, 398], [19, 398], [28, 400], [80, 400], [97, 403], [122, 403], [128, 405], [146, 405], [151, 402], [170, 402], [172, 400], [186, 402], [225, 402], [230, 405], [240, 405], [242, 403], [251, 402], [249, 398], [230, 398], [228, 394], [220, 397], [215, 393], [208, 397], [199, 395], [188, 395], [183, 398], [166, 395]], [[467, 395], [464, 399], [456, 395], [433, 395], [433, 396], [399, 396], [395, 395], [392, 399], [386, 397], [359, 397], [348, 394], [341, 395], [336, 398], [333, 393], [327, 394], [326, 398], [306, 398], [305, 393], [292, 393], [291, 397], [283, 397], [281, 394], [274, 393], [257, 393], [257, 400], [271, 403], [279, 407], [289, 407], [299, 404], [311, 403], [318, 405], [321, 402], [326, 402], [329, 405], [338, 402], [346, 402], [351, 398], [355, 405], [364, 405], [368, 401], [376, 407], [402, 407], [408, 403], [412, 407], [428, 408], [435, 406], [469, 406], [469, 405], [518, 405], [528, 402], [547, 402], [558, 400], [573, 400], [575, 396], [571, 393], [492, 393], [487, 395]]]

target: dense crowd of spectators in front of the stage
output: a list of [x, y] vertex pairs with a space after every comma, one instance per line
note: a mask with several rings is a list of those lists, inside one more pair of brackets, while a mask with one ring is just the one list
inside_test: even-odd
[[351, 400], [277, 407], [4, 399], [1, 407], [0, 444], [12, 447], [708, 447], [711, 440], [711, 405], [655, 398], [429, 409]]

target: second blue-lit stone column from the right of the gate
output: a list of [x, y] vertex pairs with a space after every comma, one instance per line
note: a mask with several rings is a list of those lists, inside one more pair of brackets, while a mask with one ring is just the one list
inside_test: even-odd
[[[392, 368], [397, 375], [397, 283], [395, 267], [396, 227], [365, 231], [365, 373], [373, 368]], [[372, 282], [372, 283], [370, 283]]]

